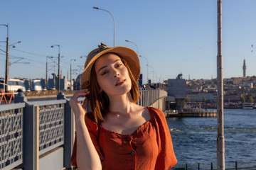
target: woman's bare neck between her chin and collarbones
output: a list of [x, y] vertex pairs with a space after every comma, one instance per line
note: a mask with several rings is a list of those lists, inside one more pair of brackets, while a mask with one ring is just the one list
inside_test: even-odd
[[111, 113], [127, 114], [132, 110], [134, 103], [132, 103], [131, 94], [127, 93], [122, 96], [114, 96], [110, 98], [110, 108]]

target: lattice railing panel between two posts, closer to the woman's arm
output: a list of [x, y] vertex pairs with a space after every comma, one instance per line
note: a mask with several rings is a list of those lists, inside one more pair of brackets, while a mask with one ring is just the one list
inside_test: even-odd
[[64, 103], [39, 106], [39, 151], [64, 142]]

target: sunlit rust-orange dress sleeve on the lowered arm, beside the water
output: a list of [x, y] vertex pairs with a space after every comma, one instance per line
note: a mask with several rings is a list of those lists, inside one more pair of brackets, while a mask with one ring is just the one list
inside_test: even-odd
[[157, 109], [151, 108], [154, 111], [156, 118], [156, 128], [159, 145], [159, 155], [156, 159], [156, 170], [171, 169], [177, 164], [177, 159], [174, 154], [174, 147], [171, 141], [171, 133], [166, 123], [164, 113]]

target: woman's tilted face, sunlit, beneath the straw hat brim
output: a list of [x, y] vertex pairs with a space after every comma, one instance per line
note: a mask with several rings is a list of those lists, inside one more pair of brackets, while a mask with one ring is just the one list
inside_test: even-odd
[[97, 59], [95, 72], [100, 89], [109, 97], [127, 94], [132, 88], [127, 67], [113, 53], [102, 55]]

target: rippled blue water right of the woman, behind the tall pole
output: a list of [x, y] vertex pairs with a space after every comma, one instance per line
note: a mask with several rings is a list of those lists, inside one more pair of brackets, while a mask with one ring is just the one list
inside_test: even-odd
[[[217, 118], [167, 118], [178, 159], [175, 166], [216, 169]], [[225, 109], [225, 168], [256, 166], [256, 110]]]

